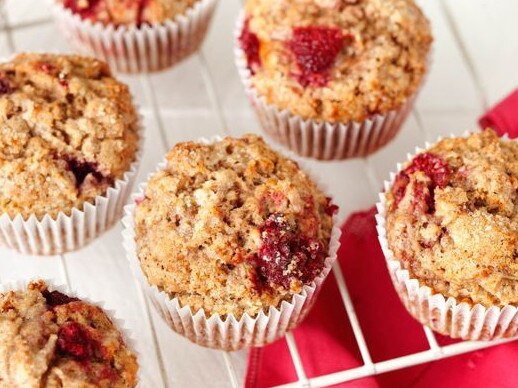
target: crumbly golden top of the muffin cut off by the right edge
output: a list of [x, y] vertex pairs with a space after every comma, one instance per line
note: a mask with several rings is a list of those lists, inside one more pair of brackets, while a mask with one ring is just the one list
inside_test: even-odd
[[446, 296], [518, 305], [518, 143], [492, 130], [418, 154], [387, 193], [387, 238]]

